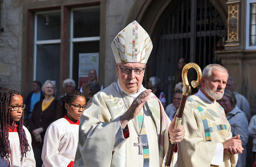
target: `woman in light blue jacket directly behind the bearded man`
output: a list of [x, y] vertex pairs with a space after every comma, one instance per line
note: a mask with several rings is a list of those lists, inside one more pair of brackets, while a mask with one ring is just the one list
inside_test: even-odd
[[238, 155], [236, 167], [246, 166], [246, 144], [248, 142], [248, 121], [246, 115], [236, 106], [235, 94], [225, 89], [223, 97], [217, 101], [226, 113], [226, 117], [231, 126], [233, 136], [240, 135], [243, 153]]

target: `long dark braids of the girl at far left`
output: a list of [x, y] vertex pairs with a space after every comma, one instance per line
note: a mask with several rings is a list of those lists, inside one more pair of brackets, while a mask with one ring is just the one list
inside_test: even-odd
[[[10, 106], [12, 104], [12, 97], [15, 95], [21, 95], [19, 92], [14, 91], [12, 89], [2, 89], [0, 90], [0, 155], [2, 159], [8, 159], [11, 155], [11, 147], [9, 142], [9, 127], [10, 127]], [[23, 96], [22, 96], [23, 98]], [[23, 98], [24, 102], [24, 98]], [[26, 134], [23, 129], [23, 116], [24, 110], [22, 112], [22, 116], [19, 122], [16, 122], [18, 125], [17, 133], [20, 139], [20, 154], [21, 158], [26, 157], [26, 153], [30, 150], [29, 143], [26, 139]], [[14, 150], [15, 151], [15, 150]], [[10, 161], [9, 161], [10, 166]]]

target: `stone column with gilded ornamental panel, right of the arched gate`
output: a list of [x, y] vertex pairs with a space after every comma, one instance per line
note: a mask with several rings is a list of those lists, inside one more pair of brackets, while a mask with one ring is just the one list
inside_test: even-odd
[[[246, 50], [245, 29], [246, 0], [228, 0], [228, 36], [224, 51], [216, 51], [236, 84], [236, 91], [244, 95], [250, 103], [252, 115], [256, 113], [256, 50]], [[248, 9], [247, 9], [248, 10]]]

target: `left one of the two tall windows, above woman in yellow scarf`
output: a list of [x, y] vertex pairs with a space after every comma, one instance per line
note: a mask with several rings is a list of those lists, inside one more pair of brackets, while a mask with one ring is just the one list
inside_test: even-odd
[[44, 11], [35, 13], [34, 80], [42, 84], [55, 81], [57, 97], [60, 91], [61, 13]]

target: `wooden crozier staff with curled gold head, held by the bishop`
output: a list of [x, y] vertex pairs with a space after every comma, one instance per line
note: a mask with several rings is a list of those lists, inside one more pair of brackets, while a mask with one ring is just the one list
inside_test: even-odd
[[[198, 84], [200, 83], [201, 78], [202, 78], [201, 68], [197, 64], [195, 64], [193, 62], [190, 62], [190, 63], [186, 64], [183, 67], [183, 70], [182, 70], [182, 81], [183, 81], [182, 98], [181, 98], [181, 101], [180, 101], [180, 107], [179, 107], [178, 115], [176, 117], [175, 128], [179, 127], [180, 124], [181, 124], [183, 110], [184, 110], [184, 107], [185, 107], [187, 96], [188, 96], [189, 91], [190, 91], [189, 81], [188, 81], [188, 78], [187, 78], [187, 73], [189, 71], [189, 68], [195, 68], [195, 70], [197, 72], [197, 75], [198, 75], [198, 79], [196, 81], [191, 82], [191, 85], [192, 85], [193, 88], [198, 86]], [[175, 148], [176, 144], [177, 143], [173, 143], [173, 142], [169, 141], [169, 148], [168, 148], [168, 153], [167, 153], [167, 157], [166, 157], [165, 167], [170, 167], [170, 165], [171, 165], [172, 155], [173, 155], [174, 148]]]

